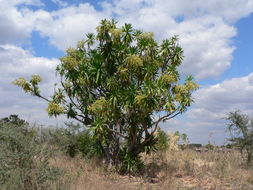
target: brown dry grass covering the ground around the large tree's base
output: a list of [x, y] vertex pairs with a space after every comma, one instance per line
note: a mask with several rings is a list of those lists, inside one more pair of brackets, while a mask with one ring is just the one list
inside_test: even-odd
[[[58, 155], [51, 164], [64, 175], [55, 189], [68, 190], [250, 190], [253, 168], [236, 151], [221, 153], [174, 150], [143, 155], [146, 168], [140, 176], [122, 176], [106, 171], [99, 160]], [[58, 188], [57, 188], [58, 187]]]

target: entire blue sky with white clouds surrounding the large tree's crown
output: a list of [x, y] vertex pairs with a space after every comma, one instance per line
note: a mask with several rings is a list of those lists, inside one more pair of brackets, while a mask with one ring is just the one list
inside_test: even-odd
[[180, 73], [200, 84], [183, 115], [161, 124], [186, 133], [191, 143], [226, 143], [228, 112], [253, 117], [253, 0], [0, 0], [0, 118], [18, 114], [32, 123], [49, 118], [47, 103], [11, 84], [33, 74], [50, 97], [59, 57], [101, 19], [154, 32], [158, 41], [178, 35], [184, 49]]

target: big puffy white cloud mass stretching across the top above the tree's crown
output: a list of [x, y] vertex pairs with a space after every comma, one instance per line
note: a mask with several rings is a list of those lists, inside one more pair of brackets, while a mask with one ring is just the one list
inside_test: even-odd
[[231, 39], [236, 35], [233, 23], [253, 11], [252, 0], [205, 3], [201, 0], [115, 0], [100, 3], [102, 10], [99, 11], [89, 3], [80, 3], [52, 12], [18, 9], [16, 6], [22, 3], [41, 5], [40, 1], [31, 0], [1, 3], [0, 44], [24, 43], [37, 30], [52, 45], [66, 50], [86, 33], [94, 32], [101, 19], [116, 17], [120, 24], [129, 22], [135, 28], [155, 32], [158, 40], [179, 35], [185, 52], [181, 71], [193, 74], [198, 80], [218, 78], [231, 66], [235, 49]]

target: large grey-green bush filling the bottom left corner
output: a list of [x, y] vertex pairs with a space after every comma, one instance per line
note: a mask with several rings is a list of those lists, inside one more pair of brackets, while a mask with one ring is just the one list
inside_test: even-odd
[[49, 165], [52, 152], [39, 143], [36, 130], [11, 115], [0, 120], [0, 187], [3, 190], [50, 189], [60, 171]]

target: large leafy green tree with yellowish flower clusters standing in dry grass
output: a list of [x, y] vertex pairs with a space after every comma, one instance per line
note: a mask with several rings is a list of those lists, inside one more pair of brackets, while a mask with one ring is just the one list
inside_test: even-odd
[[50, 99], [41, 95], [38, 75], [14, 84], [48, 101], [49, 116], [65, 114], [93, 130], [108, 162], [117, 165], [149, 152], [159, 123], [185, 112], [198, 85], [191, 76], [180, 80], [183, 50], [176, 36], [159, 45], [153, 33], [131, 24], [117, 28], [114, 20], [102, 20], [96, 31], [60, 59], [61, 87]]

